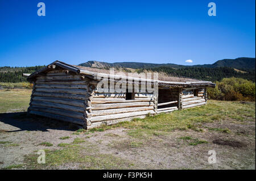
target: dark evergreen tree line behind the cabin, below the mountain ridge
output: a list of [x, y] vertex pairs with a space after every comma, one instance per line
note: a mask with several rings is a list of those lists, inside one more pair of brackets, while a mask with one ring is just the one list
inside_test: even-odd
[[[0, 67], [0, 82], [26, 82], [26, 77], [22, 77], [22, 73], [32, 73], [36, 70], [42, 69], [44, 66], [31, 66], [31, 67]], [[129, 69], [122, 68], [123, 71], [130, 71]], [[136, 69], [138, 73], [143, 71], [154, 71], [167, 73], [174, 77], [189, 77], [201, 79], [204, 81], [221, 81], [223, 78], [236, 77], [243, 78], [249, 81], [255, 82], [255, 70], [247, 70], [246, 73], [242, 73], [234, 70], [233, 68], [147, 68], [147, 69]]]

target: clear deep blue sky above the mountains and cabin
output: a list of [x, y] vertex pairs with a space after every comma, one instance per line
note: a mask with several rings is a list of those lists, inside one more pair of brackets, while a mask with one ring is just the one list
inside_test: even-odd
[[255, 57], [255, 1], [0, 0], [0, 66], [237, 57]]

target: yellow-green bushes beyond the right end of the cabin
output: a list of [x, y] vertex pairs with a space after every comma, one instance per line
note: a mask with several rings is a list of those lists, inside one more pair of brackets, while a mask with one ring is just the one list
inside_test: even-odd
[[255, 101], [255, 83], [242, 78], [224, 78], [207, 90], [209, 99]]

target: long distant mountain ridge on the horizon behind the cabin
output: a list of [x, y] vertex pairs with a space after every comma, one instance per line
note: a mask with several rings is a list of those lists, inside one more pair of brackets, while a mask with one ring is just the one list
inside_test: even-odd
[[167, 67], [167, 68], [188, 68], [188, 67], [202, 67], [202, 68], [221, 68], [221, 67], [228, 67], [234, 68], [238, 70], [255, 70], [255, 58], [247, 58], [241, 57], [236, 59], [224, 59], [218, 60], [214, 64], [204, 64], [204, 65], [177, 65], [177, 64], [150, 64], [150, 63], [142, 63], [142, 62], [116, 62], [116, 63], [107, 63], [107, 62], [100, 62], [100, 61], [88, 61], [80, 66], [87, 66], [92, 68], [112, 68], [112, 67], [119, 67], [119, 68], [132, 68], [132, 69], [148, 69], [148, 68], [159, 68], [159, 67]]

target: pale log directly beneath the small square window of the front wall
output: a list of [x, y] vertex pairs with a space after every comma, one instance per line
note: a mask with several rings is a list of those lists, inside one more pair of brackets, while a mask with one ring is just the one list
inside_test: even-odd
[[126, 100], [125, 98], [93, 98], [90, 102], [92, 104], [106, 104], [106, 103], [133, 103], [133, 102], [150, 102], [151, 98], [138, 98], [135, 100]]

